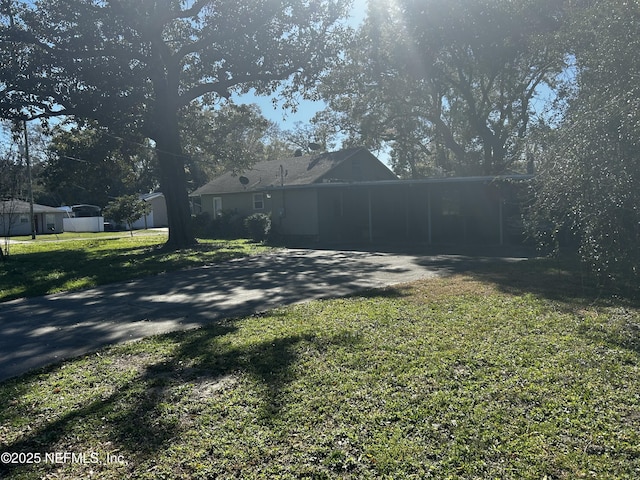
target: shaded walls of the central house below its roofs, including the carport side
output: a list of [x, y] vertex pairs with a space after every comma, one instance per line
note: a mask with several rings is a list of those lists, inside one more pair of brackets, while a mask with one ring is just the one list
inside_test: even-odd
[[[278, 233], [325, 244], [519, 244], [521, 233], [510, 228], [520, 216], [517, 190], [490, 179], [329, 183], [265, 190], [263, 211]], [[223, 210], [254, 213], [254, 193], [220, 195]], [[202, 196], [210, 214], [212, 198]]]

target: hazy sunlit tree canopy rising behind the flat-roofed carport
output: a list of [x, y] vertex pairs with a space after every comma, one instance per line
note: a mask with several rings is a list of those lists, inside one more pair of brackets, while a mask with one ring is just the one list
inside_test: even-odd
[[371, 2], [323, 89], [351, 141], [392, 145], [397, 173], [496, 174], [522, 159], [532, 101], [564, 54], [564, 2]]

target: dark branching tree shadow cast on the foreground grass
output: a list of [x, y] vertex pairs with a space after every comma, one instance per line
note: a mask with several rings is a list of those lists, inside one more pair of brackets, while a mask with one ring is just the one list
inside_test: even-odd
[[[73, 410], [53, 416], [51, 420], [29, 430], [21, 440], [2, 442], [2, 450], [14, 453], [81, 450], [81, 447], [73, 446], [78, 441], [76, 437], [82, 445], [84, 438], [96, 432], [99, 441], [108, 443], [111, 450], [119, 452], [134, 464], [140, 464], [167, 449], [174, 439], [189, 428], [179, 414], [168, 412], [180, 402], [176, 396], [193, 395], [198, 385], [207, 383], [224, 387], [228, 378], [248, 379], [253, 394], [258, 397], [257, 410], [254, 411], [256, 421], [268, 425], [278, 418], [286, 406], [286, 399], [281, 393], [296, 378], [292, 367], [299, 356], [299, 345], [311, 342], [317, 343], [319, 348], [326, 348], [328, 343], [345, 341], [340, 336], [319, 339], [311, 333], [302, 333], [244, 346], [230, 346], [229, 336], [236, 331], [236, 321], [229, 320], [195, 331], [172, 334], [174, 340], [178, 339], [178, 346], [171, 355], [146, 365], [139, 375], [117, 386], [108, 396], [100, 397], [96, 393], [86, 404], [77, 405]], [[157, 338], [163, 337], [166, 335]], [[349, 341], [353, 342], [352, 339]], [[45, 372], [55, 374], [58, 369], [59, 366], [48, 367]], [[14, 395], [20, 395], [19, 392], [26, 390], [25, 385], [38, 383], [40, 375], [42, 372], [29, 374], [5, 386]], [[246, 388], [247, 384], [232, 385]], [[92, 384], [86, 386], [92, 387]], [[206, 398], [196, 398], [196, 405], [215, 398], [216, 389], [213, 390], [213, 394], [205, 392]], [[243, 391], [242, 398], [246, 394]], [[5, 413], [5, 422], [8, 424], [12, 423], [10, 415], [9, 412]], [[14, 415], [16, 419], [21, 417], [19, 412]], [[69, 443], [72, 447], [67, 446]], [[59, 467], [40, 465], [37, 468]], [[25, 472], [29, 468], [0, 464], [0, 478]]]

